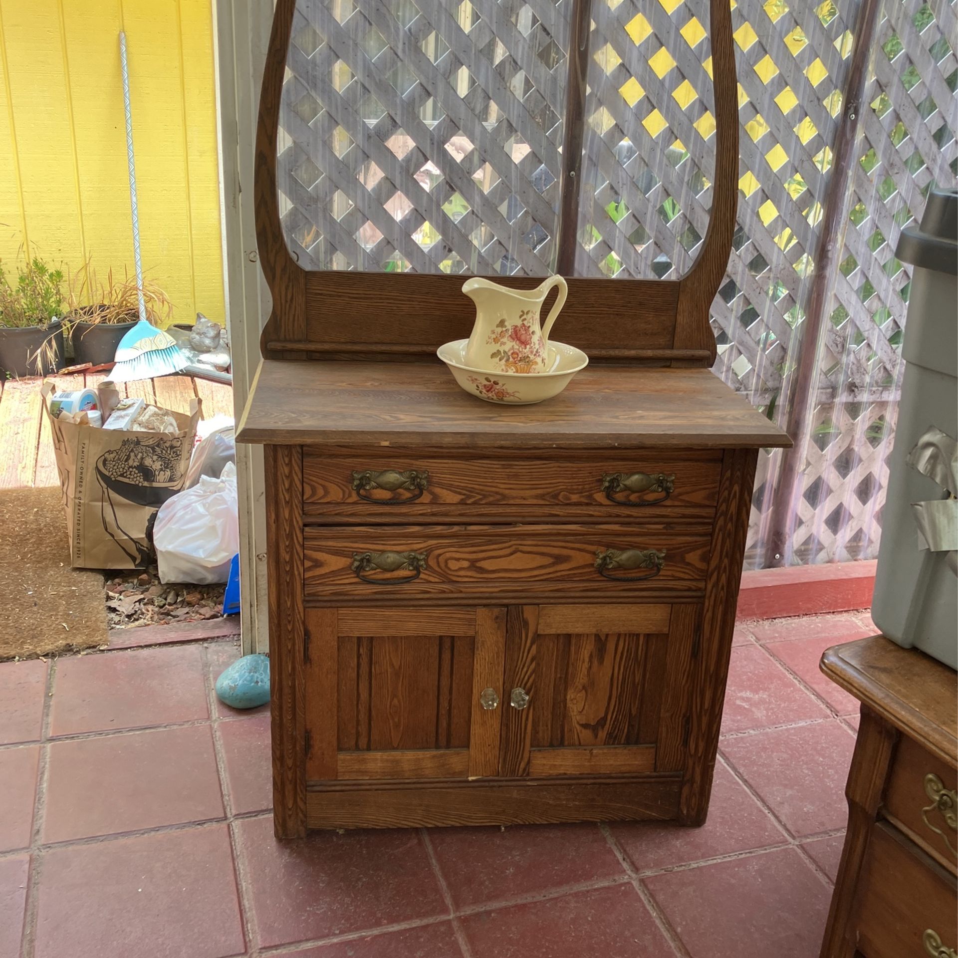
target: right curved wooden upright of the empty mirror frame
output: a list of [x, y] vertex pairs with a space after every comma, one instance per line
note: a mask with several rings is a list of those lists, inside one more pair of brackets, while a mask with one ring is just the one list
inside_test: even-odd
[[729, 0], [711, 0], [709, 28], [716, 118], [712, 210], [698, 259], [679, 281], [673, 348], [708, 350], [711, 366], [716, 341], [709, 310], [728, 267], [739, 208], [739, 84]]

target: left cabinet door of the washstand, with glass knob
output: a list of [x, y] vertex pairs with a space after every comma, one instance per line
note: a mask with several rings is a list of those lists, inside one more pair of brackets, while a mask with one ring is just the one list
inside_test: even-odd
[[494, 775], [505, 610], [311, 608], [308, 781]]

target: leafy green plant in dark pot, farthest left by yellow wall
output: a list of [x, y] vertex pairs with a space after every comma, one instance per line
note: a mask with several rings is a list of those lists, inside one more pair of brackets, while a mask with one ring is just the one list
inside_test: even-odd
[[49, 376], [63, 365], [63, 271], [37, 257], [11, 283], [0, 263], [0, 371]]

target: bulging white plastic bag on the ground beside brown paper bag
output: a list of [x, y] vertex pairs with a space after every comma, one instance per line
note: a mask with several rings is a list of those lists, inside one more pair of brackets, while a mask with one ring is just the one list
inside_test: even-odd
[[156, 513], [153, 545], [160, 582], [226, 582], [239, 552], [236, 466], [168, 499]]

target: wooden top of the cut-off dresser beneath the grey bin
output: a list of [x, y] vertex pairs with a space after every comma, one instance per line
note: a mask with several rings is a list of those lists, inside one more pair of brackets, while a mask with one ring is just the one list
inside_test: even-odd
[[875, 635], [825, 650], [822, 672], [949, 764], [958, 753], [958, 675]]

